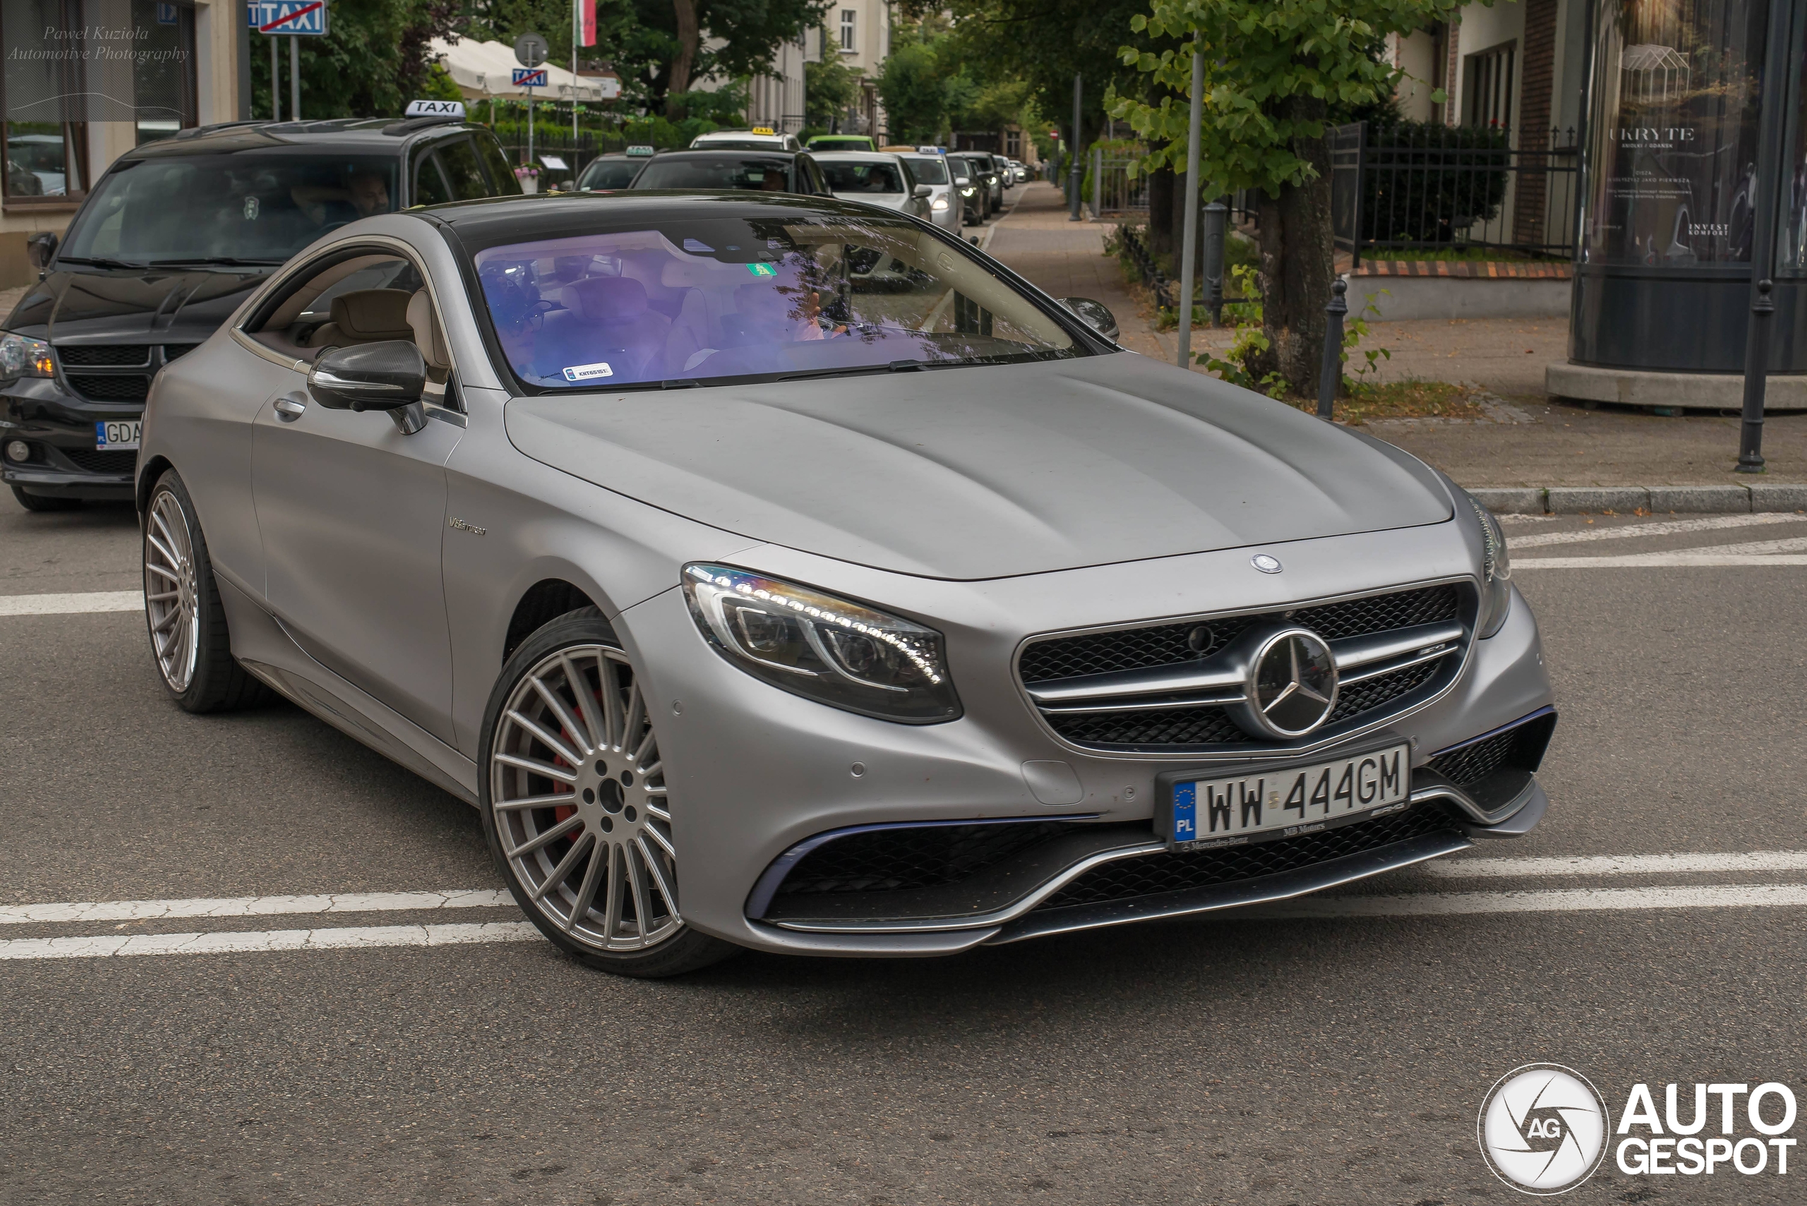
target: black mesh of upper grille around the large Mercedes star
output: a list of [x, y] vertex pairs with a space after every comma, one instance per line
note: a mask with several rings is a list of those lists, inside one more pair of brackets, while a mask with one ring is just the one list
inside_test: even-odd
[[[1326, 641], [1417, 625], [1469, 621], [1465, 596], [1462, 587], [1444, 583], [1321, 607], [1301, 607], [1290, 612], [1223, 616], [1178, 625], [1053, 637], [1025, 648], [1017, 666], [1023, 682], [1035, 684], [1088, 673], [1198, 661], [1216, 654], [1256, 625], [1279, 621], [1310, 628]], [[1337, 708], [1325, 720], [1325, 726], [1379, 719], [1375, 713], [1400, 706], [1422, 688], [1447, 681], [1456, 664], [1456, 659], [1446, 657], [1350, 682], [1339, 693]], [[1231, 719], [1229, 710], [1218, 704], [1126, 708], [1122, 711], [1044, 711], [1043, 715], [1055, 733], [1075, 746], [1160, 751], [1261, 740], [1243, 733]]]

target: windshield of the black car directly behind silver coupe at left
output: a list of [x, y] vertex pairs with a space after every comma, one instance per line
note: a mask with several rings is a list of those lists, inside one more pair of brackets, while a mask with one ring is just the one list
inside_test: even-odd
[[396, 159], [193, 155], [117, 164], [60, 260], [280, 264], [320, 235], [396, 208]]

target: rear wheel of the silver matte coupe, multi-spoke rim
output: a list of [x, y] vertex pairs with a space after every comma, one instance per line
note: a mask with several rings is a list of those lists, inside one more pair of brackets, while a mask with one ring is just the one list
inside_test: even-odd
[[170, 699], [183, 711], [195, 713], [267, 700], [269, 688], [231, 655], [208, 542], [175, 469], [168, 469], [150, 489], [143, 545], [145, 626], [157, 677]]

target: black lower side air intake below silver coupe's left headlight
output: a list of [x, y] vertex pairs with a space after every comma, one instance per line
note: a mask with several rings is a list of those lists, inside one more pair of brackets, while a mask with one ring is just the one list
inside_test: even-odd
[[896, 892], [958, 883], [1070, 827], [1063, 821], [1019, 821], [909, 825], [847, 834], [802, 856], [777, 894]]

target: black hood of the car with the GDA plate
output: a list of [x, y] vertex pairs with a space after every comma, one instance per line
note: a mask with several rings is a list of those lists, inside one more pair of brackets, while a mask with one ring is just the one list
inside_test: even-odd
[[201, 343], [273, 271], [63, 269], [20, 300], [5, 329], [52, 343]]

